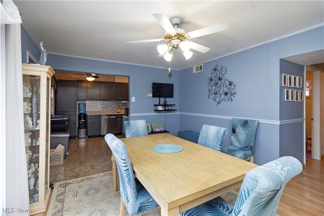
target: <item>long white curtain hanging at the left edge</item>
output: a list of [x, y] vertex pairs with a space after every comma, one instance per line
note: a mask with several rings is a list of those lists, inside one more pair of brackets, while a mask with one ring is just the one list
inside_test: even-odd
[[26, 212], [29, 210], [29, 192], [24, 142], [21, 17], [12, 0], [2, 1], [0, 15], [1, 139], [4, 141], [0, 149], [3, 169], [1, 214], [29, 215], [29, 212]]

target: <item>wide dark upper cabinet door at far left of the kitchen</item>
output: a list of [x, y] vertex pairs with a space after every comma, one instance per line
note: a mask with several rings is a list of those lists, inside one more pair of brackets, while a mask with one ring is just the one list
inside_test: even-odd
[[76, 111], [76, 81], [57, 80], [55, 110]]

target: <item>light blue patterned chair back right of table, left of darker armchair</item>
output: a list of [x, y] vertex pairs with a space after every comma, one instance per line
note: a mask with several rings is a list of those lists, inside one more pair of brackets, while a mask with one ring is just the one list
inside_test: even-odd
[[203, 124], [200, 128], [198, 144], [217, 151], [222, 151], [227, 128]]

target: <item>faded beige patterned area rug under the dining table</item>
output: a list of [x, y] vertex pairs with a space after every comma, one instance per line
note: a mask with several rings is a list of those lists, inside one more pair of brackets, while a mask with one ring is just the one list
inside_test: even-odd
[[[237, 193], [222, 196], [234, 204]], [[79, 179], [58, 182], [54, 185], [47, 215], [119, 215], [120, 196], [113, 192], [112, 171]], [[125, 215], [129, 215], [125, 209]], [[142, 214], [161, 215], [154, 208]]]

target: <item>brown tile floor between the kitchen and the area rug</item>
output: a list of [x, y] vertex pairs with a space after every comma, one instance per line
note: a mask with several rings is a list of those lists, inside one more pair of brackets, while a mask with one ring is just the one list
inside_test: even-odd
[[111, 151], [104, 137], [69, 140], [68, 151], [69, 155], [63, 164], [50, 166], [50, 183], [112, 170]]

